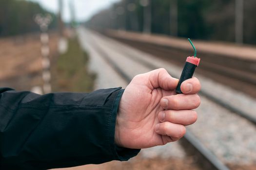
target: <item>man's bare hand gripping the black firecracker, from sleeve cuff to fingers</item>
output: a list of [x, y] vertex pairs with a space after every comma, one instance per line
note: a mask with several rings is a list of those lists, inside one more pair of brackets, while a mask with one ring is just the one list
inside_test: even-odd
[[178, 79], [163, 69], [133, 78], [118, 108], [115, 141], [126, 148], [141, 149], [173, 142], [185, 135], [186, 125], [197, 120], [200, 104], [197, 78], [181, 84], [184, 94], [176, 94]]

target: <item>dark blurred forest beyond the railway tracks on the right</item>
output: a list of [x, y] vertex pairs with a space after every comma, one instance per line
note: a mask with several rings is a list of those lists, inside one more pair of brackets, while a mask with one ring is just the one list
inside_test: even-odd
[[[121, 0], [100, 11], [86, 22], [101, 29], [124, 29], [142, 32], [145, 0]], [[147, 1], [147, 0], [146, 0]], [[172, 3], [176, 1], [176, 6]], [[235, 41], [236, 0], [150, 0], [151, 33], [193, 39]], [[244, 0], [244, 43], [256, 44], [256, 0]], [[173, 11], [177, 10], [177, 23]], [[173, 34], [172, 27], [177, 27]]]

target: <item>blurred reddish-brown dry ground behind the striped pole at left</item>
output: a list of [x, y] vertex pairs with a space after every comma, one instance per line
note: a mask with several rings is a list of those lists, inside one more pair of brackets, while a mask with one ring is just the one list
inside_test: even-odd
[[[58, 35], [50, 34], [50, 57], [57, 54]], [[0, 38], [0, 86], [30, 90], [41, 85], [39, 34]]]

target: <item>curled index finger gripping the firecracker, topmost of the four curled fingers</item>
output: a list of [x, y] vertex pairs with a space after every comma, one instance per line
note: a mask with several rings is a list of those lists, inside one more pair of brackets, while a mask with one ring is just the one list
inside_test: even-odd
[[196, 77], [193, 77], [182, 82], [180, 89], [184, 94], [196, 94], [201, 89], [201, 84]]

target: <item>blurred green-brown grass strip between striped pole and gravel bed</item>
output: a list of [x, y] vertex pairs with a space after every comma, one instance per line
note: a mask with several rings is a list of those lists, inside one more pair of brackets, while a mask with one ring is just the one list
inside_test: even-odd
[[59, 56], [55, 63], [54, 91], [90, 92], [95, 75], [88, 72], [88, 55], [79, 46], [77, 38], [69, 39], [68, 51]]

